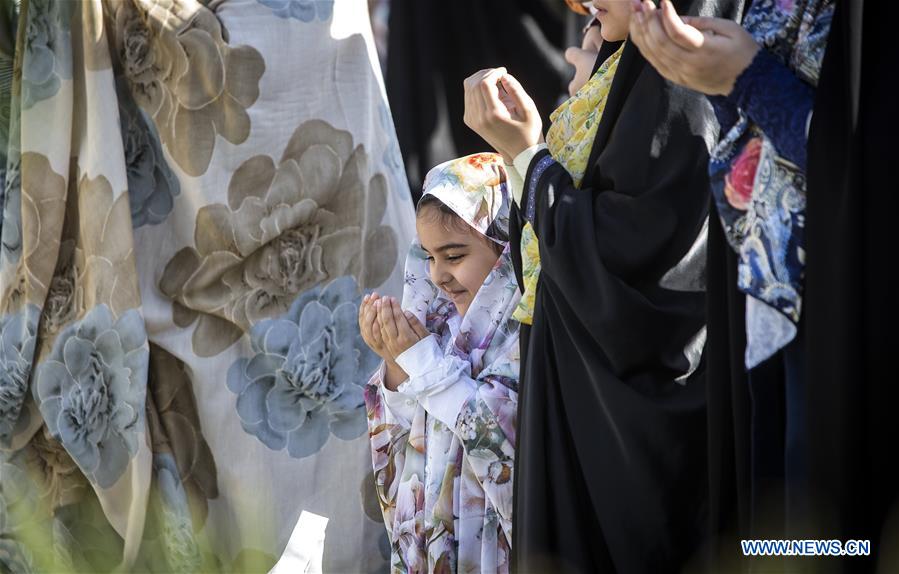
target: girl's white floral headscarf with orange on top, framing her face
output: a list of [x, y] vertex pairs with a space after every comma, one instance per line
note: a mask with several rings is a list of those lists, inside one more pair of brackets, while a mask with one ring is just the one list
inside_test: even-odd
[[[422, 197], [433, 195], [463, 221], [505, 249], [462, 320], [453, 352], [472, 365], [472, 377], [505, 350], [517, 335], [512, 319], [520, 293], [508, 249], [511, 192], [502, 158], [493, 153], [474, 154], [442, 163], [428, 172]], [[427, 253], [418, 238], [406, 258], [403, 308], [411, 311], [447, 348], [450, 317], [457, 313], [452, 301], [431, 281]]]

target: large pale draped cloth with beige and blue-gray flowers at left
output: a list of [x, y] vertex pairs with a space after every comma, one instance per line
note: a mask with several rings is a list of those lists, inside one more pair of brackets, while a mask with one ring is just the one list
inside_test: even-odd
[[356, 316], [413, 210], [352, 1], [0, 2], [0, 572], [267, 572], [304, 510], [386, 566]]

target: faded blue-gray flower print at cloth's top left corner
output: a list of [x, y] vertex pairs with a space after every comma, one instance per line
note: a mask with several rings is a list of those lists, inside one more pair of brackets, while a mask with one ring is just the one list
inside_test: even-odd
[[25, 24], [22, 106], [53, 97], [72, 78], [72, 13], [76, 3], [31, 0]]

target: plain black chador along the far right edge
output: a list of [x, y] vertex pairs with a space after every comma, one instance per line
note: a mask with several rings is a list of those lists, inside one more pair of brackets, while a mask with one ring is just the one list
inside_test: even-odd
[[838, 3], [809, 133], [809, 475], [815, 535], [871, 540], [869, 559], [832, 559], [846, 572], [899, 571], [892, 28], [880, 3]]

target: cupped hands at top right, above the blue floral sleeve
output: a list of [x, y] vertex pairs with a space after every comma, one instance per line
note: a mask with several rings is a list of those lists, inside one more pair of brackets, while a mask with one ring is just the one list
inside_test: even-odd
[[670, 0], [634, 2], [630, 38], [664, 78], [709, 95], [727, 95], [761, 49], [736, 22], [681, 18]]

